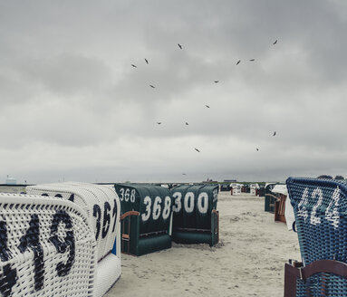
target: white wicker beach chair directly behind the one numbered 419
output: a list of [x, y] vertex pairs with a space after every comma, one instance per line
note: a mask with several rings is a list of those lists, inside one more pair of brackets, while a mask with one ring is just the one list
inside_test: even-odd
[[121, 273], [120, 199], [115, 190], [102, 185], [66, 182], [30, 186], [26, 191], [71, 200], [87, 213], [96, 239], [98, 260], [94, 296], [102, 296], [117, 282]]

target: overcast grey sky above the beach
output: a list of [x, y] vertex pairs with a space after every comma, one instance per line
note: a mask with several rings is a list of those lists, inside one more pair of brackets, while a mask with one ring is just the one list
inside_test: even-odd
[[346, 32], [343, 0], [0, 0], [0, 183], [346, 177]]

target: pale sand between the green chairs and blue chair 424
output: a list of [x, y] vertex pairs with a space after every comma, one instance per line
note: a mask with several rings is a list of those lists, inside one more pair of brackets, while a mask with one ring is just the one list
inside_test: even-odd
[[264, 211], [264, 197], [220, 192], [217, 209], [217, 246], [122, 254], [120, 280], [105, 296], [283, 296], [284, 263], [300, 259], [297, 235]]

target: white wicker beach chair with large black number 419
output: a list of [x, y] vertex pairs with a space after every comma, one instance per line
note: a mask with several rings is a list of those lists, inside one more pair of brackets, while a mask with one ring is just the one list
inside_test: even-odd
[[81, 207], [0, 194], [0, 295], [93, 296], [96, 242]]

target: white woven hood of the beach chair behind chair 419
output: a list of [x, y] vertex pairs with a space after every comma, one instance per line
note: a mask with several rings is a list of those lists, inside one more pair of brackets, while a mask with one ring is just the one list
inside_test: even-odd
[[[120, 200], [111, 187], [65, 182], [30, 186], [26, 187], [26, 191], [28, 194], [60, 196], [81, 206], [91, 221], [98, 261], [111, 252], [116, 235], [120, 238]], [[120, 251], [120, 247], [117, 251]]]

